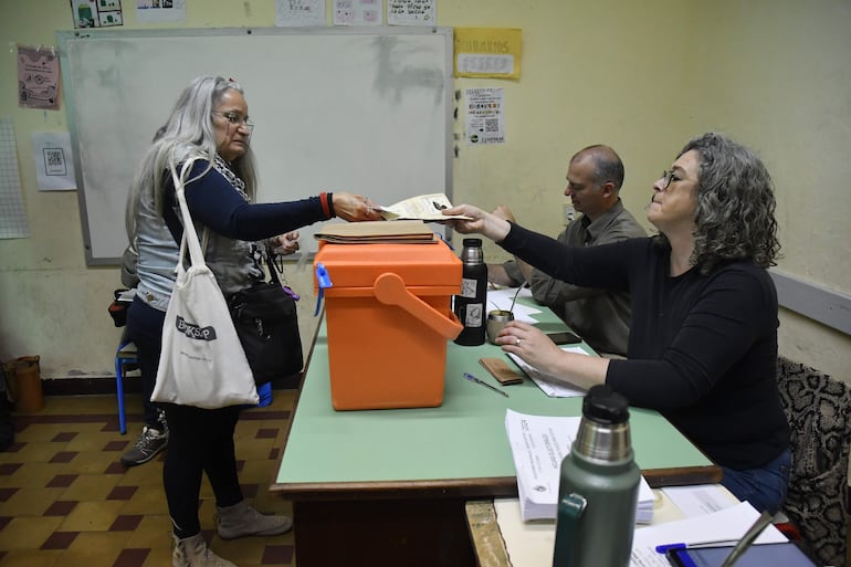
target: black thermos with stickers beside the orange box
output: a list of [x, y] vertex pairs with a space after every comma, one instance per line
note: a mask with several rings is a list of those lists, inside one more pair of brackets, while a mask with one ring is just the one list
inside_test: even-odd
[[454, 312], [464, 330], [455, 338], [455, 344], [464, 346], [483, 345], [487, 319], [487, 265], [484, 263], [482, 239], [464, 239], [461, 252], [463, 262], [461, 295], [455, 295]]

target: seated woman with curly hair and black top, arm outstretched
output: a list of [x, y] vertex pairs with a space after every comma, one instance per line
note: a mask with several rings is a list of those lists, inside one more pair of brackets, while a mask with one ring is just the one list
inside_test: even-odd
[[749, 149], [719, 134], [694, 138], [653, 183], [659, 234], [568, 248], [475, 207], [444, 211], [566, 282], [629, 291], [628, 358], [566, 353], [532, 325], [496, 342], [529, 365], [589, 388], [607, 384], [659, 410], [724, 471], [722, 484], [757, 510], [786, 497], [791, 452], [777, 390], [777, 292], [766, 269], [779, 250], [771, 179]]

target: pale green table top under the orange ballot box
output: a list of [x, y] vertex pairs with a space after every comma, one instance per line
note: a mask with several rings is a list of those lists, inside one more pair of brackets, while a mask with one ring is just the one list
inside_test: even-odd
[[[547, 308], [535, 317], [545, 330], [566, 328]], [[440, 407], [336, 411], [330, 399], [326, 330], [323, 322], [271, 489], [274, 492], [313, 497], [357, 491], [360, 483], [366, 483], [360, 486], [364, 490], [462, 483], [494, 484], [497, 487], [484, 492], [505, 495], [506, 486], [516, 491], [506, 409], [540, 416], [581, 414], [582, 398], [548, 398], [528, 378], [502, 387], [508, 398], [464, 379], [466, 371], [496, 385], [479, 358], [506, 355], [487, 343], [463, 347], [452, 342], [446, 349]], [[593, 354], [588, 345], [582, 347]], [[403, 379], [405, 368], [399, 372]], [[639, 466], [645, 474], [659, 472], [653, 480], [649, 476], [652, 485], [718, 479], [717, 468], [656, 411], [631, 408], [630, 426]], [[685, 476], [669, 474], [683, 468], [693, 471]]]

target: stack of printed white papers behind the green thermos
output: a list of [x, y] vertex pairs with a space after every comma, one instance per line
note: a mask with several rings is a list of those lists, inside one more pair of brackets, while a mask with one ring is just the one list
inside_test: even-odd
[[[505, 429], [517, 472], [521, 515], [529, 519], [556, 517], [561, 460], [570, 452], [581, 418], [505, 412]], [[635, 521], [653, 519], [653, 491], [644, 477], [639, 485]]]

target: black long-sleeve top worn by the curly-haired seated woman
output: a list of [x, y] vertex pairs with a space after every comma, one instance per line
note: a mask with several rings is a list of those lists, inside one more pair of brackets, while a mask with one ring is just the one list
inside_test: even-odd
[[569, 283], [629, 291], [627, 360], [606, 384], [631, 405], [659, 410], [716, 463], [763, 466], [789, 447], [777, 389], [777, 292], [766, 270], [727, 262], [669, 275], [653, 239], [568, 248], [512, 224], [500, 243]]

